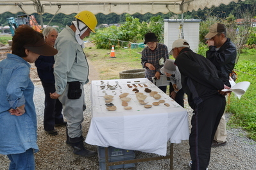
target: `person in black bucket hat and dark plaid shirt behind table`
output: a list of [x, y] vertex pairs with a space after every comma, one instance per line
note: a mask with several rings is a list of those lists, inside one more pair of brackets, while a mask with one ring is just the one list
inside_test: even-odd
[[[169, 58], [167, 46], [158, 43], [155, 33], [146, 33], [144, 36], [144, 44], [147, 45], [142, 50], [141, 64], [145, 68], [145, 77], [152, 81], [152, 77], [160, 79], [160, 68], [164, 66], [164, 61]], [[166, 93], [166, 86], [158, 87]]]

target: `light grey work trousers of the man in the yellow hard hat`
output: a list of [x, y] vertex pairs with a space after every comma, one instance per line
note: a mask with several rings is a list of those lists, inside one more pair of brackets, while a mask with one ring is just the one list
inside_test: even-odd
[[67, 98], [69, 84], [67, 84], [64, 93], [58, 98], [63, 105], [63, 114], [67, 119], [67, 132], [69, 137], [80, 137], [82, 135], [81, 123], [83, 122], [83, 111], [85, 111], [85, 93], [81, 84], [81, 97], [78, 99]]

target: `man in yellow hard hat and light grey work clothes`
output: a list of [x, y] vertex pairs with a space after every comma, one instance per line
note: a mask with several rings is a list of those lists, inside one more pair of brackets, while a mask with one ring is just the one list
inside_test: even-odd
[[66, 26], [58, 35], [55, 47], [55, 86], [51, 98], [58, 98], [63, 105], [67, 119], [67, 144], [74, 148], [73, 153], [82, 157], [92, 157], [96, 151], [83, 146], [81, 123], [85, 111], [83, 85], [89, 82], [89, 65], [83, 52], [83, 38], [95, 33], [97, 19], [92, 12], [83, 11], [74, 16], [71, 26]]

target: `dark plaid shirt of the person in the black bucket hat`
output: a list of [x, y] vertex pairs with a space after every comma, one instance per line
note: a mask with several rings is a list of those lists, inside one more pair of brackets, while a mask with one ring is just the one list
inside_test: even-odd
[[[151, 50], [149, 47], [145, 47], [142, 50], [141, 64], [142, 67], [146, 69], [145, 77], [149, 79], [149, 81], [152, 81], [152, 77], [155, 77], [155, 73], [160, 72], [160, 68], [164, 66], [164, 62], [159, 63], [160, 59], [163, 61], [169, 59], [167, 46], [163, 43], [157, 43], [155, 50]], [[149, 68], [145, 66], [146, 63], [151, 63], [155, 66], [155, 70], [149, 70]]]

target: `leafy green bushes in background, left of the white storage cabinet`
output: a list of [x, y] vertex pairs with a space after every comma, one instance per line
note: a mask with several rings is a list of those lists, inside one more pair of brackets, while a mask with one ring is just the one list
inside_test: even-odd
[[160, 15], [151, 17], [149, 24], [139, 22], [139, 19], [126, 14], [126, 22], [120, 27], [105, 27], [98, 29], [95, 35], [91, 35], [97, 49], [110, 49], [111, 45], [125, 47], [130, 42], [141, 42], [144, 35], [153, 32], [158, 36], [159, 42], [164, 40], [164, 19]]

